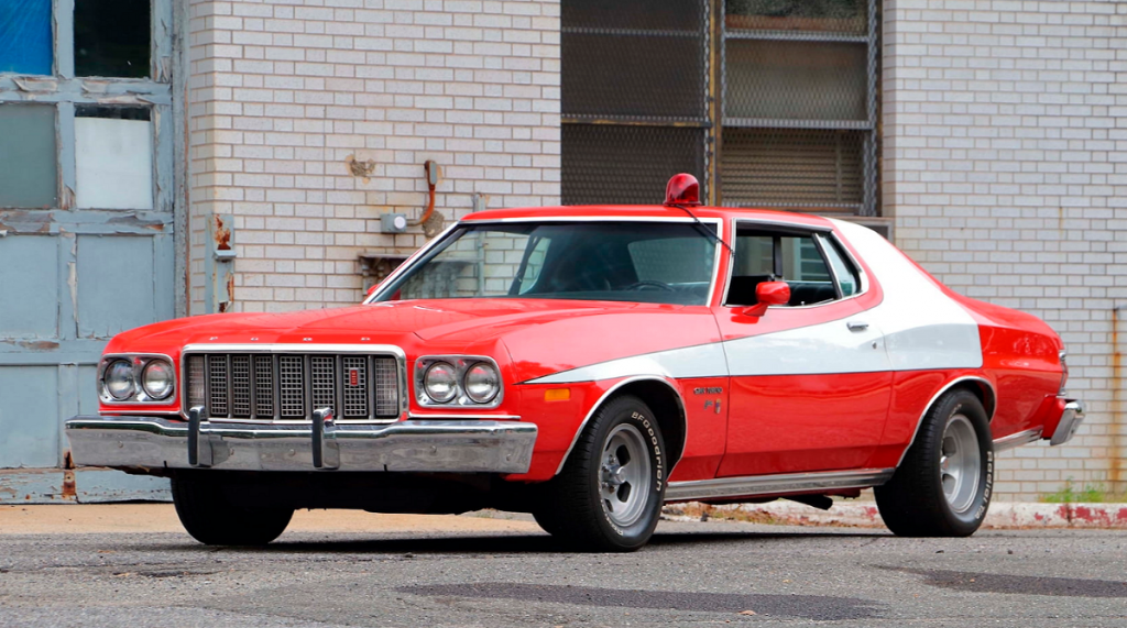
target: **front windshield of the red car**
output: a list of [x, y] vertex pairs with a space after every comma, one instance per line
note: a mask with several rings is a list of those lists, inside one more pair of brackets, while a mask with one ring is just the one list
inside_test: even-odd
[[692, 223], [470, 224], [451, 232], [382, 288], [376, 300], [531, 297], [706, 305], [715, 263], [715, 240]]

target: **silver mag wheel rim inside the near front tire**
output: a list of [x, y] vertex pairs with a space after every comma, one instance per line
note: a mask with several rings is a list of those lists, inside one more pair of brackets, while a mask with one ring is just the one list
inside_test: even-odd
[[620, 528], [632, 526], [646, 512], [654, 481], [647, 448], [630, 423], [615, 425], [603, 445], [600, 495], [607, 519]]

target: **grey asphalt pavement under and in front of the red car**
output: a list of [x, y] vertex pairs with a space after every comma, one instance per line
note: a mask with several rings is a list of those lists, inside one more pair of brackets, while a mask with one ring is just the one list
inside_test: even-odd
[[167, 505], [114, 524], [54, 508], [0, 511], [0, 626], [1127, 626], [1125, 530], [663, 521], [612, 555], [522, 517], [321, 512], [264, 549], [216, 549]]

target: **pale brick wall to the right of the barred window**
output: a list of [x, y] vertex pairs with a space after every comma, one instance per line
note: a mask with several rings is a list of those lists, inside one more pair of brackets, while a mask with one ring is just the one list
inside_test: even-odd
[[1127, 478], [1111, 367], [1112, 309], [1127, 306], [1127, 3], [884, 7], [881, 192], [897, 244], [953, 289], [1048, 321], [1089, 402], [1068, 446], [1001, 456], [999, 496], [1070, 478], [1122, 491], [1110, 481]]

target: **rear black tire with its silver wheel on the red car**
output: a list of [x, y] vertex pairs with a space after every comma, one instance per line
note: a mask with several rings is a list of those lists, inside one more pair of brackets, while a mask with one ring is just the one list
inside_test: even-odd
[[[952, 479], [955, 466], [962, 479]], [[875, 493], [881, 519], [897, 536], [968, 537], [982, 526], [993, 487], [994, 441], [986, 411], [974, 393], [957, 389], [928, 411], [896, 474]]]

